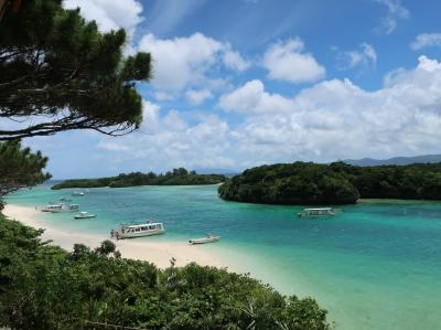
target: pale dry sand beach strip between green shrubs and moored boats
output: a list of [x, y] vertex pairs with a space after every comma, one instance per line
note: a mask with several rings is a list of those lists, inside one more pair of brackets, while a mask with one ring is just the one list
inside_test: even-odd
[[[43, 228], [43, 239], [52, 239], [54, 245], [58, 245], [66, 251], [72, 251], [75, 243], [82, 243], [89, 247], [97, 247], [99, 244], [109, 239], [108, 235], [84, 234], [73, 231], [63, 231], [53, 227], [42, 220], [40, 211], [33, 207], [7, 204], [3, 214], [10, 219], [20, 221], [21, 223], [34, 228]], [[220, 256], [215, 255], [212, 251], [207, 252], [203, 246], [193, 246], [183, 242], [146, 242], [137, 239], [114, 241], [117, 249], [122, 257], [147, 260], [155, 264], [160, 268], [170, 266], [171, 258], [176, 259], [176, 266], [183, 266], [191, 262], [200, 265], [227, 267], [232, 269], [233, 265], [228, 265]]]

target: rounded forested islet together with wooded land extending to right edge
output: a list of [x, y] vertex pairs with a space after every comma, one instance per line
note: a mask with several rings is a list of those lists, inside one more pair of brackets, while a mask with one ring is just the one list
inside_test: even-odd
[[301, 205], [351, 204], [359, 198], [441, 200], [441, 163], [261, 166], [228, 179], [218, 193], [229, 201]]

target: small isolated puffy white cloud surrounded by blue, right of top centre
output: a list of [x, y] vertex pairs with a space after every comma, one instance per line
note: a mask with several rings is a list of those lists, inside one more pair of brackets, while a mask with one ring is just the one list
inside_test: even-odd
[[304, 44], [299, 38], [271, 45], [263, 55], [263, 66], [269, 71], [268, 77], [290, 83], [308, 83], [323, 78], [325, 68], [312, 54], [303, 51]]

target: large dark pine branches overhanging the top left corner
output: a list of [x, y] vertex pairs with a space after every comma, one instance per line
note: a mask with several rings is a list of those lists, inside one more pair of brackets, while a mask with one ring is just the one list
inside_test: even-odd
[[135, 86], [151, 77], [151, 56], [125, 58], [125, 43], [123, 30], [100, 33], [61, 0], [23, 1], [18, 13], [8, 11], [0, 22], [0, 119], [26, 125], [0, 130], [0, 140], [138, 128], [142, 100]]

